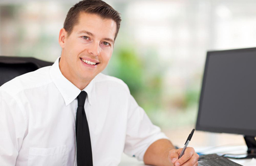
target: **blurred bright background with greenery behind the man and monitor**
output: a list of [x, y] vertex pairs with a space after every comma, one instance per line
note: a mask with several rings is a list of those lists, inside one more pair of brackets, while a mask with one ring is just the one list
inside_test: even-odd
[[[54, 62], [78, 1], [0, 1], [0, 55]], [[104, 73], [122, 79], [152, 123], [180, 147], [195, 128], [206, 51], [256, 46], [253, 0], [106, 0], [122, 22]], [[196, 131], [191, 146], [244, 144]]]

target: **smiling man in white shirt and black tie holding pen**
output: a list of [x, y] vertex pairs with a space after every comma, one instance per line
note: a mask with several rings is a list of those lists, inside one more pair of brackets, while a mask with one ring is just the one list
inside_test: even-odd
[[0, 165], [118, 165], [122, 152], [151, 165], [197, 165], [175, 149], [127, 85], [101, 74], [121, 18], [100, 0], [75, 4], [51, 67], [0, 87]]

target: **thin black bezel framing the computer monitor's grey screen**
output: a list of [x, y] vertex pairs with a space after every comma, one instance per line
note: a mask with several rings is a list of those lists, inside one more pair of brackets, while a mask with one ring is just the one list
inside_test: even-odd
[[[201, 113], [201, 107], [203, 103], [203, 98], [204, 98], [204, 88], [205, 88], [205, 82], [206, 82], [206, 73], [208, 70], [208, 63], [209, 63], [209, 58], [210, 56], [219, 56], [216, 53], [232, 53], [232, 52], [247, 52], [247, 51], [255, 51], [256, 52], [256, 47], [254, 48], [242, 48], [242, 49], [228, 49], [228, 50], [223, 50], [223, 51], [208, 51], [206, 54], [206, 60], [205, 60], [205, 67], [204, 67], [204, 74], [203, 74], [203, 80], [201, 83], [201, 92], [200, 92], [200, 99], [199, 99], [199, 109], [198, 109], [198, 117], [196, 118], [196, 130], [201, 130], [204, 132], [214, 132], [214, 133], [229, 133], [229, 134], [242, 134], [242, 135], [248, 135], [248, 136], [256, 136], [256, 128], [255, 130], [250, 130], [250, 129], [237, 129], [237, 128], [220, 128], [220, 127], [208, 127], [208, 126], [202, 126], [199, 124], [200, 120], [200, 113]], [[255, 55], [256, 56], [256, 55]], [[256, 119], [255, 119], [256, 120]]]

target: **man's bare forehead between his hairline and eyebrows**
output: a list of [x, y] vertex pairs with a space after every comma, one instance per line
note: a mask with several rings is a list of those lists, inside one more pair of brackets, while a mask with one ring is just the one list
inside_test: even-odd
[[87, 31], [96, 37], [111, 38], [114, 40], [116, 33], [116, 22], [109, 18], [102, 18], [97, 14], [81, 12], [78, 23], [73, 27], [73, 32]]

